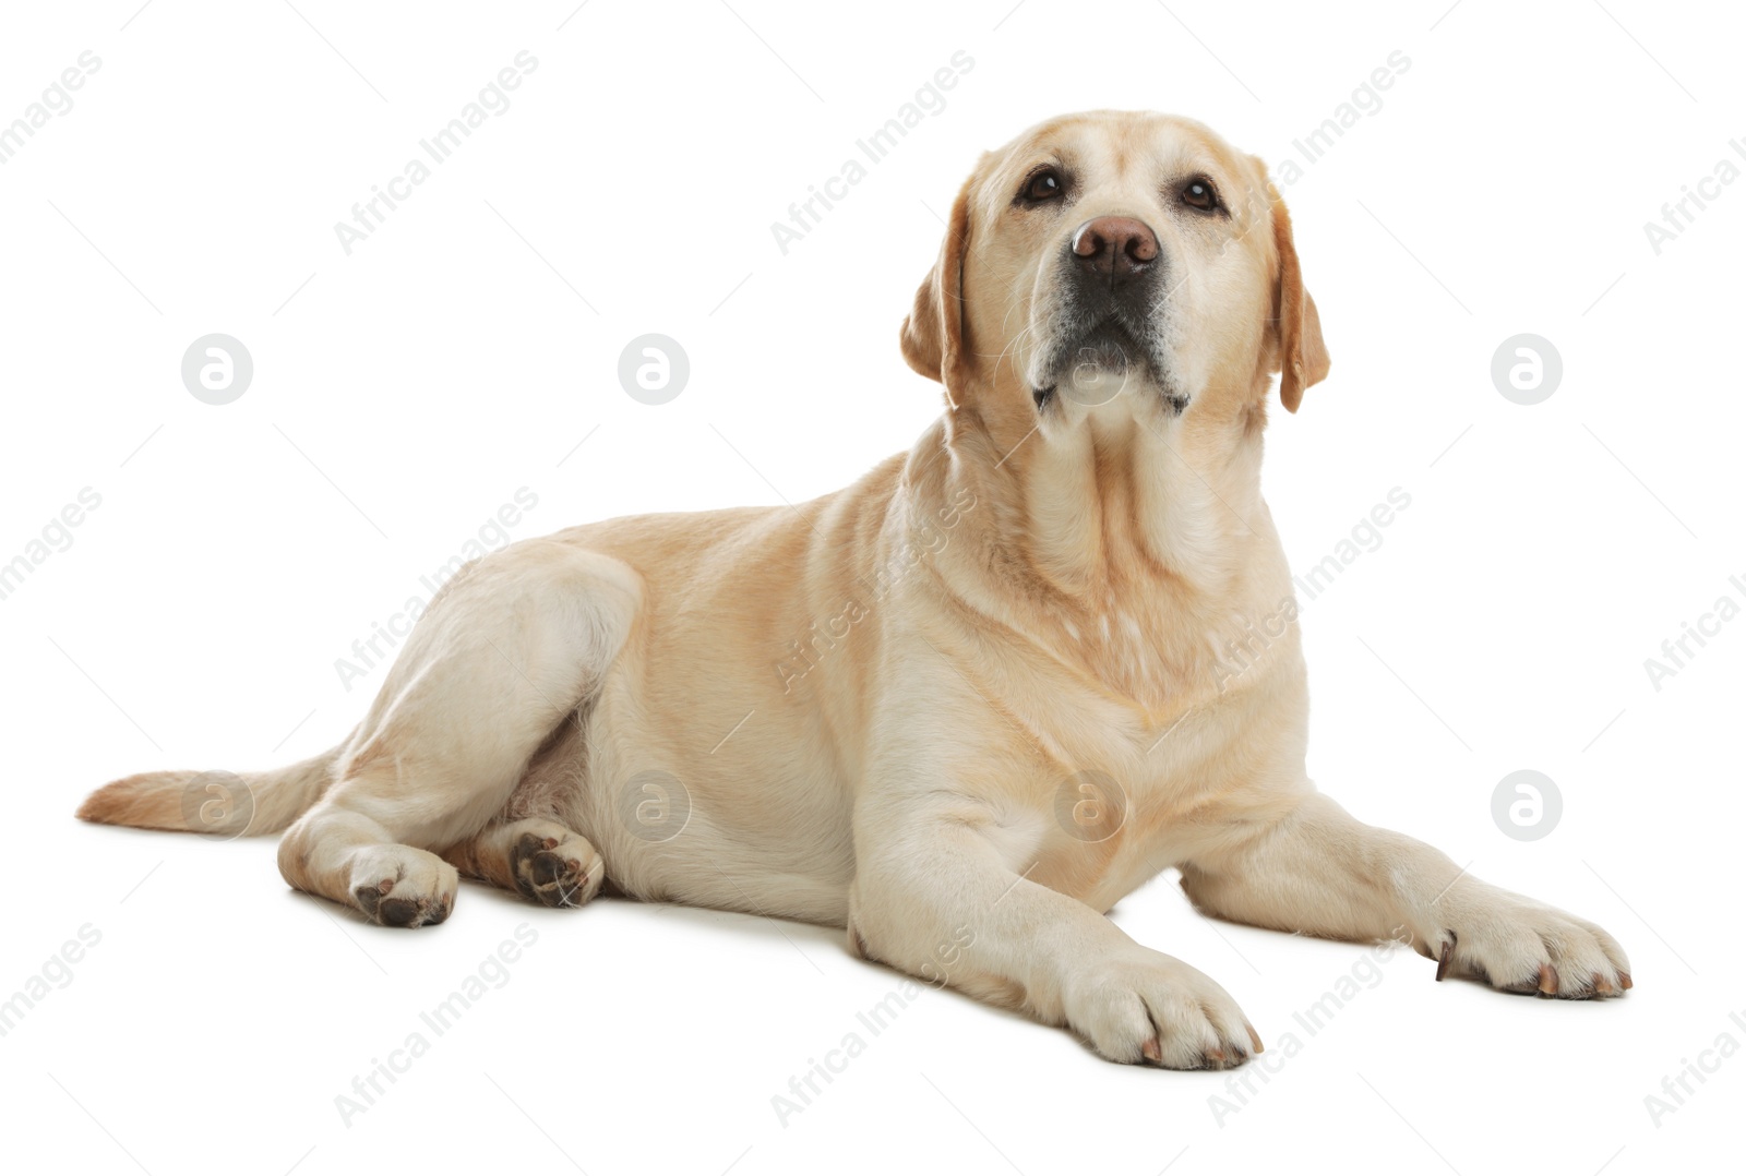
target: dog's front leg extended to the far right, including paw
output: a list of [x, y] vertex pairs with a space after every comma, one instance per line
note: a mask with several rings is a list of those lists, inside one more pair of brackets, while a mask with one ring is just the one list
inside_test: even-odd
[[1201, 913], [1236, 923], [1411, 939], [1439, 961], [1439, 981], [1475, 974], [1502, 989], [1578, 1000], [1631, 988], [1624, 949], [1594, 923], [1482, 883], [1315, 790], [1254, 836], [1186, 862], [1182, 890]]

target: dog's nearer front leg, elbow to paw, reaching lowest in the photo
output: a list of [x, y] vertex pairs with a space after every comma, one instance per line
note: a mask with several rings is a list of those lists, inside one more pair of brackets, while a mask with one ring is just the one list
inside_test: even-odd
[[986, 803], [927, 792], [861, 817], [849, 909], [861, 954], [1065, 1024], [1110, 1061], [1205, 1070], [1261, 1050], [1212, 979], [1023, 878], [1030, 838]]

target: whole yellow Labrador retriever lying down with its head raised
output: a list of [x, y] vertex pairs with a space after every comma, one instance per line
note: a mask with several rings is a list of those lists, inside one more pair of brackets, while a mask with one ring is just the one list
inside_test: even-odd
[[395, 926], [443, 921], [457, 874], [845, 926], [1123, 1063], [1261, 1049], [1103, 916], [1168, 867], [1206, 914], [1411, 940], [1439, 979], [1631, 988], [1594, 923], [1304, 775], [1261, 441], [1273, 373], [1296, 410], [1329, 358], [1257, 157], [1154, 113], [1027, 131], [959, 192], [901, 342], [946, 412], [847, 490], [517, 543], [431, 602], [340, 747], [217, 817], [197, 773], [79, 815], [290, 827], [292, 886]]

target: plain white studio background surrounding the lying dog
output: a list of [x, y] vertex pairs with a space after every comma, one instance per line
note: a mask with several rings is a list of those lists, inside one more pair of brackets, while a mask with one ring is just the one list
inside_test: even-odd
[[[0, 562], [101, 496], [0, 600], [0, 995], [101, 933], [0, 1038], [9, 1167], [1622, 1174], [1737, 1153], [1746, 1059], [1659, 1125], [1645, 1106], [1718, 1035], [1746, 1043], [1746, 619], [1659, 691], [1643, 667], [1746, 598], [1746, 183], [1659, 256], [1643, 230], [1723, 157], [1746, 166], [1722, 5], [136, 7], [7, 5], [0, 35], [0, 120], [101, 58], [0, 166]], [[512, 108], [347, 256], [333, 223], [524, 49]], [[770, 222], [960, 49], [945, 110], [784, 256]], [[784, 1124], [772, 1096], [899, 982], [838, 930], [466, 885], [407, 933], [288, 892], [271, 839], [72, 820], [119, 775], [333, 743], [381, 682], [347, 691], [335, 660], [519, 487], [526, 537], [801, 501], [908, 448], [941, 396], [897, 325], [983, 148], [1158, 108], [1276, 166], [1397, 49], [1381, 110], [1285, 190], [1334, 356], [1269, 431], [1294, 571], [1411, 494], [1304, 602], [1311, 773], [1606, 925], [1627, 1000], [1435, 986], [1400, 953], [1310, 1038], [1292, 1014], [1369, 951], [1208, 923], [1166, 876], [1114, 918], [1219, 979], [1269, 1050], [1301, 1038], [1264, 1087], [1243, 1071], [1236, 1113], [1208, 1101], [1227, 1075], [1112, 1066], [927, 993]], [[180, 380], [211, 332], [255, 363], [227, 407]], [[616, 379], [646, 332], [691, 361], [658, 408]], [[1523, 332], [1563, 354], [1536, 407], [1489, 375]], [[1491, 818], [1521, 768], [1563, 794], [1540, 841]], [[522, 923], [538, 940], [508, 982], [347, 1125], [335, 1096]]]

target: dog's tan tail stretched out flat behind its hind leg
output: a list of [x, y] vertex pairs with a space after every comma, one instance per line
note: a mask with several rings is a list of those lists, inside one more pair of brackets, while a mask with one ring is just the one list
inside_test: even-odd
[[279, 832], [328, 790], [344, 749], [274, 771], [147, 771], [105, 783], [75, 815], [98, 825], [220, 838]]

